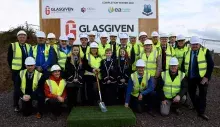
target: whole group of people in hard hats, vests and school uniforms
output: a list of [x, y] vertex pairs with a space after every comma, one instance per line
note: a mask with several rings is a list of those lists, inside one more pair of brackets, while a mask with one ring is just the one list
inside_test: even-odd
[[154, 117], [154, 106], [160, 106], [164, 116], [171, 108], [180, 114], [188, 94], [198, 116], [209, 119], [206, 94], [214, 63], [196, 36], [186, 44], [183, 35], [156, 31], [151, 38], [146, 32], [138, 36], [103, 32], [96, 42], [92, 31], [80, 34], [80, 45], [75, 44], [74, 34], [62, 35], [57, 41], [53, 33], [46, 37], [38, 31], [36, 37], [37, 45], [31, 46], [21, 30], [18, 42], [8, 49], [15, 112], [29, 116], [35, 105], [37, 118], [47, 109], [56, 120], [64, 104], [69, 111], [78, 105], [97, 105], [99, 83], [107, 106], [124, 105]]

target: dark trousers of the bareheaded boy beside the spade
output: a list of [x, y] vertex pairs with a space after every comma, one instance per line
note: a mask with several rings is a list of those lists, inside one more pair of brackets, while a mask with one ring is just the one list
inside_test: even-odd
[[106, 105], [116, 105], [117, 99], [117, 84], [110, 83], [110, 84], [103, 84], [103, 100]]

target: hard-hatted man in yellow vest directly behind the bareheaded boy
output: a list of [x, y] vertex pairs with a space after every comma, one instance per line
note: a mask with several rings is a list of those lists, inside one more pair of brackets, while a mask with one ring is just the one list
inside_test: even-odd
[[102, 59], [105, 59], [105, 50], [108, 48], [111, 48], [111, 45], [107, 43], [108, 41], [108, 34], [106, 32], [102, 32], [100, 35], [100, 43], [99, 43], [99, 56], [101, 56]]

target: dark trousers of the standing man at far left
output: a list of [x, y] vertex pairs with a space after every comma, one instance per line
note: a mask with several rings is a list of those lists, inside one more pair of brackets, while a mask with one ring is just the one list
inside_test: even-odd
[[18, 107], [18, 102], [19, 102], [19, 94], [17, 93], [18, 91], [16, 91], [16, 78], [17, 76], [19, 76], [19, 72], [20, 70], [16, 71], [16, 70], [12, 70], [12, 81], [13, 81], [13, 86], [14, 86], [14, 92], [13, 92], [13, 106], [14, 107]]

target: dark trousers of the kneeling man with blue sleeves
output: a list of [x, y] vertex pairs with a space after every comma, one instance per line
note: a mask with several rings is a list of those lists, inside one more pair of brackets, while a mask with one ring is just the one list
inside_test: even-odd
[[[134, 112], [142, 113], [146, 110], [152, 110], [152, 94], [143, 95], [142, 100], [138, 100], [138, 97], [131, 95], [129, 106]], [[147, 108], [145, 109], [145, 104]]]

